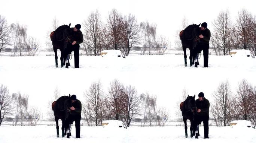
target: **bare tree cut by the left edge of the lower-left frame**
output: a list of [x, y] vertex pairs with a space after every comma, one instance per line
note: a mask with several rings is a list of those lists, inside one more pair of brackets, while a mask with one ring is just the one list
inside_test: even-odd
[[3, 85], [0, 86], [0, 126], [6, 118], [12, 114], [12, 96]]

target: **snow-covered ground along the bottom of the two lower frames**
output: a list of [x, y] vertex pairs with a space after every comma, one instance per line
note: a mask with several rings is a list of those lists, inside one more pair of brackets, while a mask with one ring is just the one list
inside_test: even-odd
[[[60, 131], [61, 133], [61, 131]], [[1, 126], [1, 143], [255, 143], [256, 130], [252, 128], [209, 127], [209, 139], [185, 138], [184, 127], [129, 127], [103, 128], [81, 127], [81, 139], [75, 139], [75, 127], [71, 138], [57, 138], [55, 126]]]

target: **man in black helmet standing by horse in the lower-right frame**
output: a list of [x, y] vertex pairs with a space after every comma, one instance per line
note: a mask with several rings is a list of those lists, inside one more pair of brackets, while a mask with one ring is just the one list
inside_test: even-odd
[[204, 93], [200, 92], [198, 94], [198, 99], [196, 99], [196, 108], [197, 108], [197, 114], [195, 115], [195, 125], [196, 125], [195, 138], [196, 139], [199, 136], [199, 133], [198, 133], [199, 124], [201, 124], [202, 121], [204, 123], [204, 139], [209, 139], [209, 136], [208, 136], [209, 107], [210, 107], [209, 101], [206, 98], [204, 98]]

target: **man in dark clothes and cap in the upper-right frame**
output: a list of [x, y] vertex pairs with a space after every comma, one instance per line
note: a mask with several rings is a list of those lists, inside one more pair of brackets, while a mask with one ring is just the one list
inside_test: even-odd
[[[202, 51], [204, 52], [204, 67], [208, 67], [208, 54], [209, 54], [209, 41], [211, 38], [211, 32], [207, 28], [207, 23], [203, 22], [201, 24], [201, 34], [199, 35], [199, 40], [196, 49], [198, 52]], [[194, 53], [196, 54], [196, 53]]]

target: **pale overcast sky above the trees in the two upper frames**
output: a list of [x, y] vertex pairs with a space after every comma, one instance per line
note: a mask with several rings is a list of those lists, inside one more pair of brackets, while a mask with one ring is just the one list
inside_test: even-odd
[[174, 39], [182, 27], [184, 16], [189, 24], [207, 22], [212, 31], [211, 22], [221, 10], [229, 9], [234, 22], [242, 8], [256, 15], [255, 0], [1, 0], [0, 5], [0, 15], [6, 18], [8, 24], [19, 22], [27, 25], [28, 36], [39, 39], [42, 48], [54, 17], [60, 25], [71, 23], [73, 27], [81, 24], [96, 9], [100, 11], [103, 21], [115, 8], [123, 15], [135, 15], [138, 22], [155, 23], [157, 34], [166, 36], [171, 47], [175, 46]]

